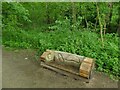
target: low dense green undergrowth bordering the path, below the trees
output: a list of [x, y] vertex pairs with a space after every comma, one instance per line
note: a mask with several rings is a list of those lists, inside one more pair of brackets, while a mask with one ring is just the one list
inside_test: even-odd
[[[12, 31], [11, 31], [12, 30]], [[96, 60], [96, 69], [120, 76], [118, 64], [118, 35], [106, 34], [102, 47], [99, 34], [87, 30], [36, 32], [3, 30], [3, 44], [13, 48], [38, 49], [37, 55], [46, 49], [66, 51]]]

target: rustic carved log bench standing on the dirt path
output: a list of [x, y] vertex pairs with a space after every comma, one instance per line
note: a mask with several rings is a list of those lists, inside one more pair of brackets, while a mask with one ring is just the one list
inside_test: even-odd
[[[47, 60], [46, 57], [50, 54], [52, 57], [54, 56], [54, 58], [52, 58], [52, 60], [51, 58]], [[94, 65], [94, 60], [92, 58], [54, 50], [46, 50], [40, 58], [41, 65], [45, 67], [51, 68], [52, 70], [56, 70], [57, 68], [88, 79], [91, 76]]]

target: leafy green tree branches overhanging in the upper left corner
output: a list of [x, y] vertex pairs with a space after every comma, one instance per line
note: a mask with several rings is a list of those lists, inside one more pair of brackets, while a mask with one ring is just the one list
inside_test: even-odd
[[2, 3], [2, 21], [3, 21], [3, 29], [18, 27], [22, 25], [22, 22], [28, 21], [30, 22], [29, 12], [26, 10], [22, 4], [20, 3]]

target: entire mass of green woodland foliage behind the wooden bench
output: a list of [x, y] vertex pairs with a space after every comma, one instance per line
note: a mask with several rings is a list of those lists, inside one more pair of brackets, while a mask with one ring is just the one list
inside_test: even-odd
[[[98, 7], [102, 25], [110, 23], [116, 32], [119, 4], [112, 4], [113, 8], [108, 3], [98, 3]], [[118, 34], [105, 33], [102, 47], [96, 3], [74, 5], [76, 20], [73, 24], [71, 2], [2, 3], [3, 45], [38, 49], [38, 56], [46, 49], [53, 49], [91, 57], [96, 60], [96, 70], [120, 77]], [[111, 12], [112, 17], [109, 17]]]

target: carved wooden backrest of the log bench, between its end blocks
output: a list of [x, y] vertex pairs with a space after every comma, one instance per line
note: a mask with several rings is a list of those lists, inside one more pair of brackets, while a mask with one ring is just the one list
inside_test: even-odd
[[48, 52], [54, 52], [54, 61], [58, 64], [70, 65], [74, 67], [79, 67], [81, 62], [84, 60], [84, 56], [79, 56], [76, 54], [71, 54], [61, 51], [47, 50]]

